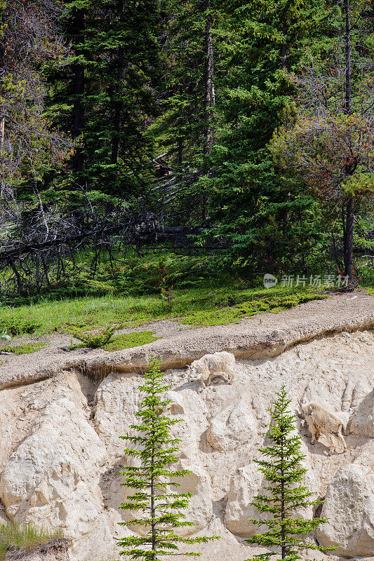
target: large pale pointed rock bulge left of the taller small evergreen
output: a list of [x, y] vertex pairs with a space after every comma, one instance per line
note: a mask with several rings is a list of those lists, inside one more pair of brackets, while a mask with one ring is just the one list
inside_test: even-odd
[[107, 555], [112, 528], [102, 515], [98, 479], [105, 446], [74, 403], [48, 405], [20, 443], [0, 479], [0, 496], [11, 520], [62, 527], [80, 559]]

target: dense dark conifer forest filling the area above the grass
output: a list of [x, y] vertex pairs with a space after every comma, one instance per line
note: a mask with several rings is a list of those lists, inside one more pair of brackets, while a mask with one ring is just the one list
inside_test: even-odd
[[144, 255], [154, 285], [165, 255], [174, 283], [373, 280], [372, 1], [0, 11], [1, 297], [147, 285]]

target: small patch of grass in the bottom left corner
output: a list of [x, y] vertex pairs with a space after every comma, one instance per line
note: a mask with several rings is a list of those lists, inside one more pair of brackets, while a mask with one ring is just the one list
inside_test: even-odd
[[0, 560], [5, 558], [6, 551], [11, 546], [31, 551], [42, 543], [62, 537], [60, 529], [49, 531], [43, 528], [38, 529], [31, 524], [21, 526], [15, 522], [0, 523]]

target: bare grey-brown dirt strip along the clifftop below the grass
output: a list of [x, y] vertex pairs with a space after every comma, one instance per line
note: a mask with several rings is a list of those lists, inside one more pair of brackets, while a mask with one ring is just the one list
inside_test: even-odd
[[[180, 355], [182, 353], [180, 349], [183, 347], [187, 349], [187, 356], [191, 354], [190, 358], [194, 360], [196, 358], [194, 353], [196, 356], [201, 356], [201, 353], [224, 348], [232, 347], [234, 349], [237, 346], [239, 349], [241, 343], [236, 342], [236, 339], [240, 336], [247, 344], [252, 334], [258, 337], [258, 342], [254, 342], [254, 345], [263, 346], [264, 341], [268, 341], [269, 338], [275, 340], [281, 334], [280, 339], [278, 337], [280, 343], [276, 344], [290, 346], [292, 337], [295, 337], [295, 342], [298, 338], [305, 337], [298, 332], [299, 324], [304, 326], [305, 333], [309, 332], [311, 337], [318, 336], [319, 332], [331, 332], [331, 330], [360, 329], [361, 323], [363, 328], [370, 329], [374, 327], [374, 296], [368, 295], [366, 292], [358, 292], [354, 295], [335, 293], [328, 297], [325, 296], [325, 299], [314, 299], [311, 302], [294, 306], [292, 309], [278, 311], [278, 313], [274, 313], [274, 311], [258, 313], [251, 317], [236, 318], [229, 325], [225, 325], [225, 321], [222, 323], [223, 325], [196, 327], [181, 323], [178, 318], [168, 318], [133, 325], [133, 327], [122, 327], [116, 332], [116, 337], [124, 337], [121, 339], [122, 344], [118, 347], [109, 346], [104, 349], [89, 349], [81, 346], [69, 350], [69, 346], [79, 340], [72, 337], [71, 334], [63, 332], [24, 334], [13, 339], [8, 345], [8, 349], [11, 345], [13, 345], [13, 349], [16, 346], [29, 346], [28, 352], [0, 355], [0, 388], [24, 383], [28, 377], [31, 381], [36, 378], [42, 379], [61, 368], [69, 367], [74, 363], [82, 363], [82, 361], [89, 363], [92, 360], [93, 362], [98, 360], [99, 363], [115, 365], [123, 360], [121, 358], [112, 360], [111, 357], [120, 357], [123, 353], [123, 356], [130, 357], [127, 351], [136, 354], [140, 352], [140, 348], [148, 349], [156, 356], [158, 349], [166, 349], [170, 356], [174, 351], [176, 355]], [[288, 332], [290, 340], [284, 343], [282, 341], [286, 332]], [[234, 346], [230, 346], [231, 334]], [[126, 337], [135, 337], [135, 339], [130, 339], [126, 344]], [[139, 339], [137, 340], [136, 337]], [[307, 335], [308, 337], [309, 335]], [[167, 345], [163, 343], [166, 339], [168, 339]], [[142, 347], [143, 345], [145, 346]], [[135, 349], [130, 349], [130, 347], [135, 347]], [[189, 353], [189, 347], [191, 349], [196, 347], [196, 349]], [[6, 352], [8, 351], [1, 351], [1, 353]], [[187, 362], [190, 361], [187, 360]], [[166, 360], [166, 367], [167, 362]]]

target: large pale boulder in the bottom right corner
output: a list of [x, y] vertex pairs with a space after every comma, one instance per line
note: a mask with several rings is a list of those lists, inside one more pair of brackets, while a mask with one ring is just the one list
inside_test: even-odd
[[317, 530], [323, 546], [338, 546], [342, 557], [372, 555], [374, 551], [374, 473], [369, 467], [349, 464], [340, 468], [328, 485]]

